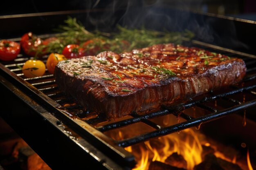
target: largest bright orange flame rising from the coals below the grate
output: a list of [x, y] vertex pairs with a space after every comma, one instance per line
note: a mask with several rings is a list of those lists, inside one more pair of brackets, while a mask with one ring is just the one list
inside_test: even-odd
[[[195, 165], [202, 162], [202, 146], [192, 129], [183, 130], [180, 134], [159, 137], [158, 141], [164, 147], [157, 148], [157, 146], [150, 144], [150, 141], [144, 142], [144, 147], [140, 146], [141, 160], [138, 161], [137, 166], [132, 170], [146, 170], [149, 166], [147, 163], [151, 161], [161, 161], [164, 163], [167, 157], [174, 152], [182, 155], [186, 160], [187, 170], [193, 170]], [[125, 149], [128, 150], [128, 147]]]

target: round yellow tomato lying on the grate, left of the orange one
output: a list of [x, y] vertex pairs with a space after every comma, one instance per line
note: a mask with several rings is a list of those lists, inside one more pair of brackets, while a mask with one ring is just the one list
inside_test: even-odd
[[40, 60], [27, 60], [22, 67], [25, 77], [38, 77], [45, 73], [45, 64]]

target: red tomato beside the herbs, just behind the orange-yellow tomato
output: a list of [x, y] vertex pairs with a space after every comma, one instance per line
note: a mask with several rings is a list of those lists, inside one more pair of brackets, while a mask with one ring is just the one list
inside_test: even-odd
[[76, 44], [70, 44], [65, 46], [62, 51], [62, 54], [65, 55], [66, 58], [78, 58], [84, 56], [84, 49], [79, 47]]

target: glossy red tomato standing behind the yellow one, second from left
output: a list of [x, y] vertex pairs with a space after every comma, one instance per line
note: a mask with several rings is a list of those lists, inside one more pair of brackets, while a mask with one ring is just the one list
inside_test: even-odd
[[45, 51], [43, 50], [41, 53], [36, 54], [36, 50], [38, 46], [43, 44], [43, 40], [41, 38], [38, 38], [36, 35], [33, 35], [33, 33], [25, 33], [20, 40], [20, 45], [23, 49], [23, 51], [29, 55], [34, 57], [37, 56], [43, 56], [45, 55]]

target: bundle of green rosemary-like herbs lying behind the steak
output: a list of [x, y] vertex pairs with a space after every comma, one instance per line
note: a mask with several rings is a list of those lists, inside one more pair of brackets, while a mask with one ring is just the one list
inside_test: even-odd
[[[153, 44], [180, 44], [183, 37], [193, 37], [193, 33], [187, 30], [182, 33], [162, 32], [148, 30], [144, 27], [141, 29], [127, 29], [120, 25], [117, 26], [119, 30], [117, 33], [89, 32], [76, 18], [68, 17], [64, 22], [66, 25], [60, 25], [58, 29], [55, 29], [55, 31], [59, 32], [56, 34], [56, 40], [49, 44], [39, 46], [36, 49], [37, 53], [43, 50], [46, 50], [48, 53], [62, 53], [63, 48], [68, 44], [79, 44], [85, 48], [85, 51], [93, 50], [94, 53], [101, 51], [121, 53]], [[84, 45], [88, 40], [90, 40], [90, 43]]]

